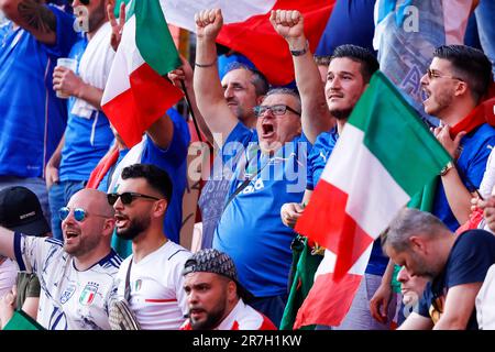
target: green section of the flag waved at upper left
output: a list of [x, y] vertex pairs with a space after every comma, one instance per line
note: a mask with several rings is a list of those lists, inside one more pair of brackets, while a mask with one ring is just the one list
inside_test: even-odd
[[155, 72], [165, 76], [180, 66], [180, 58], [158, 0], [134, 1], [135, 44]]

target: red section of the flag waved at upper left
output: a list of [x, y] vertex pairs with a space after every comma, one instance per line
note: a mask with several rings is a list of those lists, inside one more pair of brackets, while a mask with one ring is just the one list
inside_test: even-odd
[[147, 64], [135, 69], [129, 79], [131, 88], [114, 97], [102, 109], [131, 148], [141, 142], [144, 131], [183, 97], [183, 91]]

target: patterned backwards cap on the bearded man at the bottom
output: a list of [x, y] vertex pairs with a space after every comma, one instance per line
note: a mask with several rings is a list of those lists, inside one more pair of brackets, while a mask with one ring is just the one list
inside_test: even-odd
[[253, 294], [239, 283], [238, 271], [232, 258], [218, 250], [206, 249], [193, 254], [184, 264], [183, 275], [186, 276], [190, 273], [213, 273], [226, 276], [235, 283], [238, 295], [244, 301], [248, 302], [254, 298]]

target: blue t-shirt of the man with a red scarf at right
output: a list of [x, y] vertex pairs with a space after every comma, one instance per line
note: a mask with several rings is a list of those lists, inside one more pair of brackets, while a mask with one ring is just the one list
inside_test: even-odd
[[[455, 167], [469, 191], [480, 188], [486, 168], [486, 161], [493, 146], [495, 146], [495, 129], [487, 123], [482, 124], [462, 138], [462, 152], [455, 162]], [[450, 209], [441, 182], [438, 183], [432, 213], [442, 220], [451, 231], [455, 231], [460, 226]]]

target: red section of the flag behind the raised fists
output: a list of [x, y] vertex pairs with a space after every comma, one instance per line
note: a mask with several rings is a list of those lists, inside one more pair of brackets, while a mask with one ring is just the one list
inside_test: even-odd
[[[327, 26], [334, 0], [278, 0], [274, 10], [299, 10], [305, 19], [305, 34], [315, 53]], [[294, 65], [287, 42], [270, 23], [267, 14], [255, 15], [241, 23], [223, 25], [217, 42], [246, 56], [273, 85], [294, 80]]]

